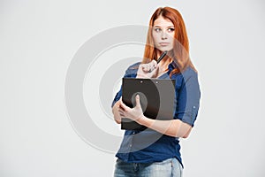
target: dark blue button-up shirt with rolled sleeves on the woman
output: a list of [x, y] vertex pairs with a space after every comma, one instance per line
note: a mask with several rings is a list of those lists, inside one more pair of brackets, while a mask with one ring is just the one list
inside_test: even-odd
[[[129, 66], [125, 72], [125, 78], [135, 78], [140, 63]], [[198, 82], [198, 75], [191, 67], [183, 73], [173, 74], [170, 72], [175, 68], [174, 62], [170, 63], [168, 72], [158, 79], [176, 80], [176, 96], [174, 104], [174, 119], [180, 119], [187, 124], [194, 126], [194, 121], [200, 106], [201, 91]], [[122, 96], [120, 89], [115, 96], [112, 106]], [[150, 128], [143, 131], [125, 130], [123, 142], [117, 151], [116, 157], [125, 162], [153, 163], [168, 158], [178, 158], [182, 164], [178, 138], [163, 135]]]

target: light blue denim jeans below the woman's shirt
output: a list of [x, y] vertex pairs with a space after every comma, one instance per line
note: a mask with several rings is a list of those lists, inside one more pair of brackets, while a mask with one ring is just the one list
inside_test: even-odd
[[127, 163], [117, 159], [114, 177], [182, 177], [182, 165], [177, 158], [154, 163]]

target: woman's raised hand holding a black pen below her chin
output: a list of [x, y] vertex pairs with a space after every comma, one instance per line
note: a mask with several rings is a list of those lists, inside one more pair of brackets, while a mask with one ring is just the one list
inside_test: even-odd
[[140, 64], [136, 78], [155, 78], [159, 72], [159, 65], [153, 59], [148, 64]]

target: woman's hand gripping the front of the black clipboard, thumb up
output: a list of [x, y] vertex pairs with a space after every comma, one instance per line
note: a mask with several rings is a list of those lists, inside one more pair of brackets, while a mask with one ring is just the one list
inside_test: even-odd
[[140, 96], [135, 96], [136, 105], [134, 108], [130, 108], [126, 106], [122, 100], [120, 100], [120, 105], [118, 112], [121, 116], [121, 118], [128, 118], [132, 119], [134, 121], [138, 121], [139, 119], [144, 118], [141, 106], [140, 106]]

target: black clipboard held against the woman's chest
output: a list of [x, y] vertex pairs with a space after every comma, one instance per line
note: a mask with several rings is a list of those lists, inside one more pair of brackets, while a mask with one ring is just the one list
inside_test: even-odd
[[[135, 106], [135, 96], [140, 96], [144, 115], [150, 119], [173, 119], [175, 102], [175, 80], [123, 78], [122, 101], [129, 107]], [[124, 118], [121, 129], [144, 130], [147, 127]]]

